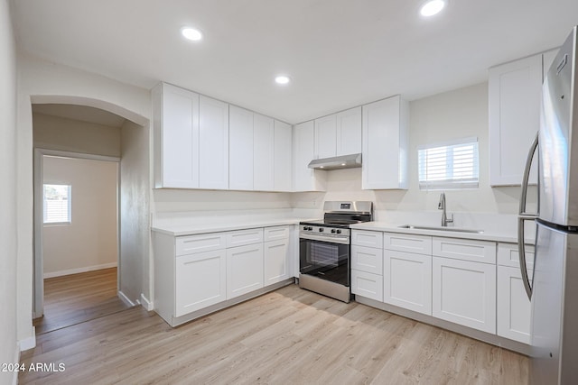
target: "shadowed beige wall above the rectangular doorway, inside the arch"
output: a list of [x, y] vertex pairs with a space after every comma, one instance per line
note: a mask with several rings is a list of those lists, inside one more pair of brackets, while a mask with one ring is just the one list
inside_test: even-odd
[[120, 157], [120, 129], [33, 113], [35, 148]]

